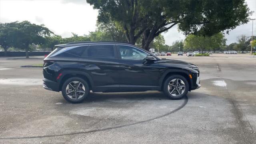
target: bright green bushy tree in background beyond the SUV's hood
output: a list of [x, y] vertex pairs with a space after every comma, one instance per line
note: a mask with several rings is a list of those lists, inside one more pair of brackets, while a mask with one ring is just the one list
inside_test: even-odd
[[184, 49], [185, 50], [218, 50], [222, 46], [226, 45], [226, 39], [221, 33], [214, 34], [213, 36], [196, 36], [188, 35], [185, 39]]

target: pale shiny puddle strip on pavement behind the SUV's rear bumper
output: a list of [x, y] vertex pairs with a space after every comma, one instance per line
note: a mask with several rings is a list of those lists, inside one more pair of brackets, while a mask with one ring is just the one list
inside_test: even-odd
[[3, 78], [0, 79], [1, 85], [23, 85], [23, 86], [31, 86], [31, 85], [42, 85], [41, 78]]

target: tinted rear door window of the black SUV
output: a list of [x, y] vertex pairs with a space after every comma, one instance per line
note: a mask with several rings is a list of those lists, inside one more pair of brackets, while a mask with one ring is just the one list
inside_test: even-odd
[[95, 58], [115, 58], [114, 45], [91, 45], [87, 55]]

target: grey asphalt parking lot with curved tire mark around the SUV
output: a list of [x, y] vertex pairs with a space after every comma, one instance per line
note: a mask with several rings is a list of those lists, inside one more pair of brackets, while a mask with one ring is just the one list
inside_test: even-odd
[[198, 65], [182, 100], [161, 92], [90, 93], [70, 104], [42, 88], [42, 57], [0, 58], [0, 143], [255, 144], [256, 58], [163, 56]]

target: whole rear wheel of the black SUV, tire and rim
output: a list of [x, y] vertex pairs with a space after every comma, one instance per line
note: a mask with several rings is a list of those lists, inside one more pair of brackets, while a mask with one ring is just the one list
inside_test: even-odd
[[[74, 90], [74, 92], [71, 92], [70, 95], [68, 95], [66, 92], [67, 88], [68, 88], [68, 91]], [[78, 90], [80, 90], [81, 92], [77, 92]], [[78, 77], [73, 77], [73, 78], [67, 79], [64, 82], [64, 84], [62, 85], [61, 91], [62, 91], [62, 96], [64, 97], [64, 99], [66, 101], [76, 104], [76, 103], [80, 103], [80, 102], [84, 101], [84, 99], [90, 93], [90, 88], [89, 88], [88, 83], [84, 79], [78, 78]]]

